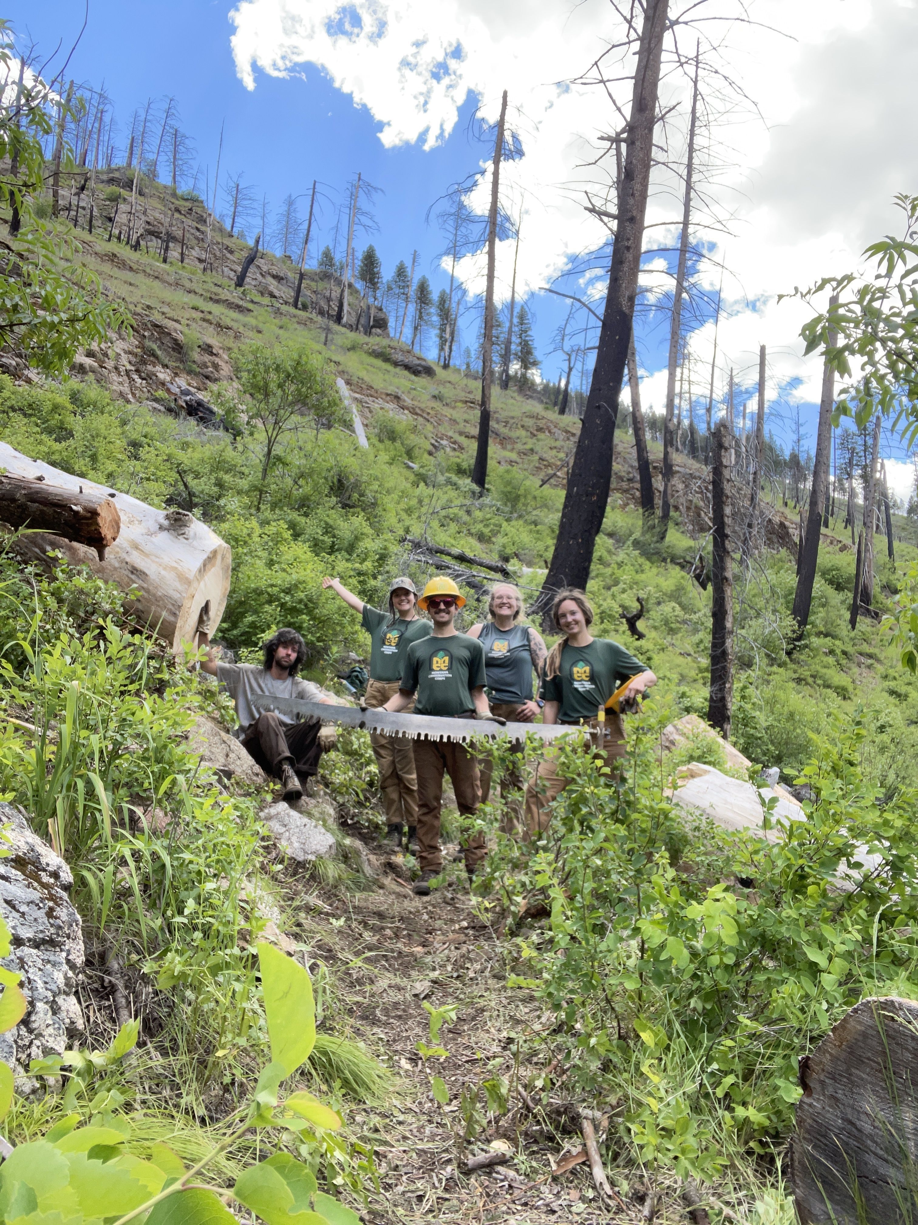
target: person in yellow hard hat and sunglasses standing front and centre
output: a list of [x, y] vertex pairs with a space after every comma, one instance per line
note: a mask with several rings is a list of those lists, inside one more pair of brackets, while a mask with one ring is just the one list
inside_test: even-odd
[[[432, 578], [417, 606], [430, 612], [433, 632], [412, 642], [405, 657], [399, 691], [384, 710], [406, 710], [415, 693], [415, 714], [443, 719], [490, 719], [485, 697], [485, 649], [476, 638], [459, 633], [455, 614], [465, 597], [452, 578]], [[421, 875], [414, 883], [419, 897], [431, 892], [430, 882], [439, 876], [439, 820], [443, 805], [443, 774], [453, 784], [455, 802], [464, 817], [474, 817], [481, 802], [479, 764], [472, 753], [453, 740], [415, 740], [417, 769], [417, 861]], [[464, 846], [469, 880], [486, 855], [485, 837], [474, 834]]]

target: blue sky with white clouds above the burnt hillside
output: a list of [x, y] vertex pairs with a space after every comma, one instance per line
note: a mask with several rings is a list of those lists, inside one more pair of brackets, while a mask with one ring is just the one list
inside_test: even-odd
[[[507, 85], [512, 124], [526, 156], [504, 167], [502, 183], [510, 202], [525, 201], [521, 283], [543, 375], [557, 377], [562, 360], [550, 350], [567, 305], [537, 290], [572, 255], [602, 240], [601, 227], [581, 207], [583, 164], [592, 156], [596, 131], [614, 125], [595, 93], [552, 82], [589, 64], [608, 33], [610, 6], [605, 0], [567, 6], [562, 0], [354, 0], [335, 9], [337, 2], [242, 0], [234, 26], [230, 0], [91, 0], [69, 75], [94, 86], [104, 80], [121, 125], [148, 97], [174, 96], [202, 173], [208, 164], [213, 173], [225, 123], [220, 178], [245, 170], [275, 206], [288, 194], [305, 196], [318, 179], [330, 197], [319, 241], [330, 241], [335, 205], [360, 170], [381, 189], [373, 208], [378, 233], [361, 236], [360, 245], [373, 241], [386, 274], [398, 260], [409, 262], [416, 246], [435, 290], [446, 283], [433, 261], [443, 240], [425, 224], [425, 214], [450, 183], [487, 158], [471, 135], [471, 119], [481, 104], [493, 120], [499, 99], [493, 82]], [[743, 123], [731, 119], [734, 164], [711, 190], [739, 221], [730, 238], [706, 239], [711, 261], [701, 279], [712, 299], [726, 251], [716, 398], [730, 368], [749, 371], [742, 382], [754, 394], [758, 345], [766, 343], [769, 428], [789, 440], [799, 402], [804, 436], [812, 440], [820, 371], [813, 359], [802, 359], [802, 309], [781, 304], [778, 294], [854, 266], [865, 243], [889, 227], [891, 191], [914, 189], [913, 142], [902, 140], [908, 107], [890, 82], [907, 80], [894, 71], [894, 61], [912, 62], [918, 24], [897, 0], [809, 0], [805, 13], [794, 0], [758, 2], [778, 31], [782, 22], [793, 24], [797, 39], [793, 47], [786, 40], [771, 45], [767, 36], [753, 33], [744, 43], [741, 31], [730, 50], [742, 59], [744, 83], [766, 123], [758, 113]], [[359, 9], [365, 17], [382, 11], [386, 21], [373, 32]], [[31, 36], [45, 54], [59, 39], [69, 48], [83, 17], [78, 0], [13, 0], [7, 13], [18, 34]], [[858, 71], [842, 74], [840, 93], [838, 66], [848, 61]], [[240, 80], [246, 74], [255, 88]], [[678, 103], [678, 85], [671, 88], [667, 100]], [[837, 167], [851, 158], [865, 173], [840, 201]], [[486, 192], [487, 180], [482, 186]], [[659, 186], [649, 221], [665, 227], [678, 208], [666, 184]], [[480, 194], [476, 203], [482, 200]], [[678, 232], [649, 233], [666, 246]], [[504, 289], [509, 256], [509, 249], [498, 254]], [[577, 284], [565, 288], [584, 292]], [[709, 312], [692, 326], [696, 385], [706, 391]], [[474, 342], [475, 328], [470, 321], [463, 343]], [[639, 327], [644, 403], [656, 410], [662, 408], [666, 344], [666, 321], [657, 311], [652, 327]], [[901, 456], [892, 440], [887, 450]], [[905, 489], [911, 480], [905, 466], [900, 477]]]

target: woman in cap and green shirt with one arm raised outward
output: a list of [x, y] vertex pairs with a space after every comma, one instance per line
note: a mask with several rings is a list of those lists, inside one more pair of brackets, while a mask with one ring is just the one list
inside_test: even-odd
[[[383, 612], [365, 604], [349, 592], [338, 578], [323, 578], [322, 586], [332, 588], [345, 604], [360, 612], [361, 624], [370, 635], [370, 684], [365, 704], [376, 709], [398, 693], [408, 648], [412, 642], [428, 637], [430, 621], [417, 615], [417, 588], [401, 576], [389, 584], [389, 608]], [[412, 708], [411, 703], [405, 709]], [[408, 835], [409, 848], [416, 843], [417, 773], [412, 741], [405, 736], [383, 736], [370, 733], [370, 744], [379, 771], [379, 790], [386, 809], [386, 838], [401, 849]]]

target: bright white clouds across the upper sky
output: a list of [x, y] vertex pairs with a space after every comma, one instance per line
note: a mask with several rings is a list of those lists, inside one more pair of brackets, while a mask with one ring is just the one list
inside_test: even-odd
[[[739, 11], [738, 0], [707, 0], [709, 16]], [[761, 24], [700, 27], [716, 28], [721, 65], [761, 111], [721, 107], [714, 131], [722, 165], [707, 192], [734, 214], [731, 236], [707, 232], [716, 247], [703, 268], [716, 289], [726, 257], [717, 381], [733, 366], [754, 383], [765, 343], [770, 394], [799, 380], [797, 398], [813, 401], [821, 371], [816, 359], [803, 360], [799, 342], [808, 310], [776, 299], [857, 266], [867, 243], [895, 224], [891, 195], [918, 190], [911, 132], [918, 12], [913, 0], [758, 0], [750, 13]], [[607, 0], [241, 0], [230, 16], [237, 71], [250, 88], [256, 69], [277, 76], [317, 65], [382, 124], [386, 146], [433, 147], [469, 96], [493, 120], [507, 88], [525, 149], [502, 170], [506, 198], [525, 198], [518, 292], [537, 290], [572, 255], [601, 243], [601, 223], [581, 208], [596, 175], [583, 167], [595, 157], [595, 136], [621, 120], [601, 91], [556, 82], [581, 74], [621, 33]], [[684, 81], [663, 88], [667, 103], [684, 102]], [[677, 147], [679, 121], [672, 121]], [[482, 211], [488, 190], [485, 175], [474, 200]], [[678, 184], [659, 172], [649, 222], [678, 216], [677, 197]], [[665, 246], [678, 230], [649, 234]], [[499, 247], [506, 295], [513, 244]], [[466, 260], [460, 271], [470, 288], [480, 285], [480, 263]], [[712, 323], [692, 337], [699, 369], [710, 369], [712, 341]], [[646, 381], [649, 407], [661, 398], [659, 382]]]

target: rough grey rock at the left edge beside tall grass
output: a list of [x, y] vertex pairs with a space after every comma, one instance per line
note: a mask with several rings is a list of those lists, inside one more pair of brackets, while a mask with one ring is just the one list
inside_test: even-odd
[[1, 965], [22, 975], [20, 990], [29, 1008], [13, 1029], [0, 1034], [0, 1058], [20, 1078], [31, 1060], [61, 1055], [71, 1035], [83, 1029], [75, 990], [83, 968], [80, 915], [70, 900], [73, 877], [64, 860], [33, 833], [18, 809], [0, 804], [10, 854], [0, 859], [0, 914], [11, 936]]

